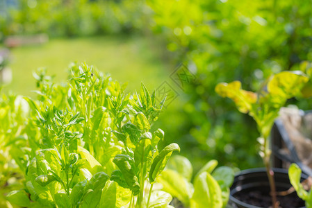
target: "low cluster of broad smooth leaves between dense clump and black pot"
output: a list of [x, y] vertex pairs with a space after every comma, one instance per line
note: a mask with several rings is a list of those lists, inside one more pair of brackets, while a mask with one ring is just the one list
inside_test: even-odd
[[181, 201], [185, 207], [225, 207], [234, 173], [227, 166], [215, 169], [216, 166], [216, 160], [209, 161], [192, 180], [190, 161], [186, 157], [174, 155], [158, 182], [163, 184], [164, 191]]

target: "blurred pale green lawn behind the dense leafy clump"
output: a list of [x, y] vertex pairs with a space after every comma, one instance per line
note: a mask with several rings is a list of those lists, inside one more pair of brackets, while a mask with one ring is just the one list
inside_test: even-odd
[[47, 67], [56, 81], [65, 81], [70, 62], [86, 62], [110, 73], [114, 80], [139, 89], [141, 81], [154, 89], [167, 79], [172, 66], [161, 60], [157, 44], [145, 37], [107, 36], [50, 40], [47, 44], [22, 46], [11, 50], [13, 82], [3, 91], [34, 95], [33, 71]]

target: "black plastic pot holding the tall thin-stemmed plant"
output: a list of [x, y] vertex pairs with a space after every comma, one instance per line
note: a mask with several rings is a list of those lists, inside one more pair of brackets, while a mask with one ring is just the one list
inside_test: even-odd
[[[288, 179], [288, 171], [281, 168], [274, 168], [273, 170], [277, 191], [288, 190], [291, 187]], [[306, 179], [306, 177], [308, 176], [302, 175], [302, 180]], [[250, 195], [253, 196], [254, 194], [262, 197], [262, 193], [267, 195], [268, 200], [270, 200], [270, 197], [268, 196], [268, 193], [270, 193], [270, 184], [268, 182], [268, 176], [265, 172], [265, 168], [253, 168], [241, 171], [234, 178], [229, 198], [229, 206], [233, 208], [262, 208], [258, 207], [258, 205], [252, 205], [253, 202], [243, 202], [238, 200], [238, 198], [244, 198], [245, 196]], [[292, 201], [297, 202], [299, 207], [304, 208], [304, 201], [298, 198], [297, 193], [295, 192], [288, 196], [281, 197], [278, 200], [282, 205], [283, 201], [290, 200], [290, 198]], [[265, 197], [261, 198], [259, 201], [262, 200], [265, 200]], [[292, 207], [290, 203], [286, 202], [286, 204], [289, 205], [289, 207]]]

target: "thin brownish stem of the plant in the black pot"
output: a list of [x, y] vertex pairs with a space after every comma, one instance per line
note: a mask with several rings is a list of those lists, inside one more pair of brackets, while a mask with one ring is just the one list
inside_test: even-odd
[[277, 202], [277, 191], [275, 188], [275, 181], [274, 181], [274, 172], [272, 171], [271, 165], [270, 165], [270, 150], [268, 146], [268, 137], [264, 138], [264, 156], [263, 156], [263, 163], [265, 165], [265, 169], [268, 175], [268, 180], [270, 184], [270, 195], [272, 198], [272, 207], [278, 208], [279, 203]]

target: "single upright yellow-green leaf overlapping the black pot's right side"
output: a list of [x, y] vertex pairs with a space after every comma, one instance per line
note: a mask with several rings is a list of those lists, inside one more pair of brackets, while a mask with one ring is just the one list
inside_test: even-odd
[[301, 169], [297, 166], [297, 164], [290, 165], [288, 169], [288, 176], [290, 184], [292, 184], [294, 189], [297, 191], [299, 198], [302, 198], [302, 200], [308, 200], [308, 193], [304, 190], [302, 184], [300, 183]]

